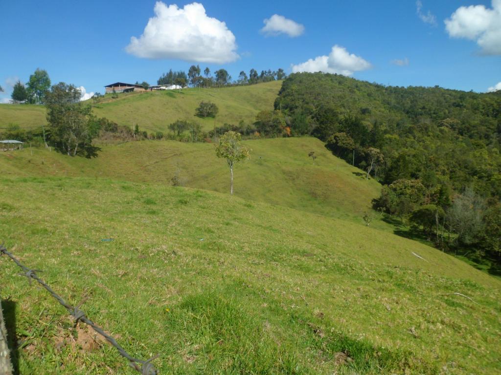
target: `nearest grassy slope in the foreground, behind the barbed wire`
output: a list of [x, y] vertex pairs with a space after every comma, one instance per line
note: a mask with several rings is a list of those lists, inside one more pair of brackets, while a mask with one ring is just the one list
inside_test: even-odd
[[[93, 177], [4, 176], [0, 218], [7, 247], [160, 373], [501, 371], [499, 281], [371, 227]], [[0, 267], [21, 373], [133, 373], [106, 343], [72, 346], [66, 311]]]

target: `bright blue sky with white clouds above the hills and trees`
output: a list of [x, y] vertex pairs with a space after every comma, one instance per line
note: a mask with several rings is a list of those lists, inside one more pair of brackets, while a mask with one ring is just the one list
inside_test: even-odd
[[[195, 61], [233, 78], [282, 67], [478, 92], [501, 82], [501, 0], [155, 2], [0, 1], [0, 101], [37, 67], [53, 83], [103, 92], [115, 81], [153, 84]], [[188, 13], [196, 13], [194, 29]], [[141, 38], [150, 17], [150, 34]]]

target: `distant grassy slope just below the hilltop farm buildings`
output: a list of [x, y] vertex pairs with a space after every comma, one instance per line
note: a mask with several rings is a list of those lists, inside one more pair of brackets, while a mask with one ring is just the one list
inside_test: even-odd
[[[272, 81], [249, 86], [223, 88], [188, 88], [181, 92], [148, 91], [118, 94], [117, 99], [106, 95], [103, 102], [94, 107], [94, 113], [107, 117], [121, 125], [142, 130], [167, 131], [167, 126], [177, 119], [194, 120], [205, 130], [214, 126], [213, 118], [194, 116], [200, 101], [212, 101], [219, 107], [216, 125], [237, 124], [240, 120], [254, 122], [256, 114], [273, 107], [282, 81]], [[92, 100], [88, 101], [92, 103]], [[23, 128], [33, 128], [47, 123], [45, 107], [40, 105], [0, 104], [0, 131], [15, 123]]]

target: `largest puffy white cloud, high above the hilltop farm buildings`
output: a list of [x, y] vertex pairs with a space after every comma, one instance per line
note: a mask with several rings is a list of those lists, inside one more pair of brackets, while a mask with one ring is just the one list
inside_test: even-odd
[[157, 1], [143, 34], [132, 36], [127, 52], [145, 58], [224, 63], [236, 60], [235, 35], [226, 23], [207, 16], [202, 4], [179, 8]]

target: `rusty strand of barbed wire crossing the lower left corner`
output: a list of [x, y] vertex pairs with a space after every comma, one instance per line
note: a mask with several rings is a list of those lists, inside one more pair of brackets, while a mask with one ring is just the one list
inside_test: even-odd
[[98, 332], [100, 335], [102, 335], [111, 345], [113, 345], [118, 350], [118, 352], [120, 353], [121, 356], [123, 356], [124, 358], [129, 360], [129, 365], [132, 368], [134, 368], [136, 371], [140, 372], [142, 375], [157, 375], [158, 374], [158, 370], [154, 367], [152, 361], [154, 359], [158, 358], [158, 356], [160, 354], [156, 354], [153, 357], [146, 359], [146, 360], [134, 358], [127, 351], [125, 351], [125, 349], [122, 346], [120, 346], [118, 344], [118, 342], [115, 340], [115, 338], [110, 336], [108, 333], [106, 333], [104, 331], [103, 328], [101, 328], [99, 325], [97, 325], [92, 320], [90, 320], [87, 317], [86, 313], [82, 309], [80, 309], [80, 306], [82, 305], [82, 303], [85, 302], [85, 300], [83, 300], [82, 302], [80, 302], [76, 306], [71, 306], [70, 304], [66, 303], [66, 301], [60, 295], [58, 295], [54, 290], [52, 290], [52, 288], [44, 280], [42, 280], [40, 277], [38, 277], [36, 272], [40, 272], [41, 271], [40, 269], [31, 269], [31, 268], [24, 266], [11, 252], [7, 251], [7, 248], [4, 245], [0, 245], [0, 256], [1, 255], [7, 255], [21, 269], [23, 269], [23, 273], [20, 273], [20, 275], [27, 277], [30, 285], [32, 283], [32, 280], [35, 280], [40, 285], [42, 285], [54, 298], [56, 298], [56, 300], [68, 310], [70, 315], [73, 316], [73, 318], [75, 319], [75, 324], [77, 324], [79, 321], [82, 321], [85, 324], [90, 325], [92, 327], [92, 329], [94, 329], [96, 332]]

